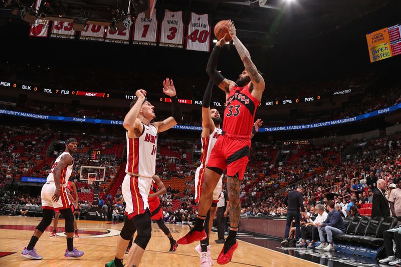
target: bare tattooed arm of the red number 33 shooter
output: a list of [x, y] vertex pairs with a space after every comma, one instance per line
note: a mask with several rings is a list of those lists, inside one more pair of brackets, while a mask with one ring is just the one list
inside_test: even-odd
[[[249, 54], [248, 49], [244, 46], [244, 44], [237, 37], [237, 30], [235, 29], [234, 23], [229, 20], [229, 33], [233, 42], [235, 43], [235, 48], [237, 49], [238, 55], [240, 55], [242, 62], [244, 63], [245, 70], [247, 70], [249, 77], [256, 89], [256, 94], [252, 93], [257, 99], [262, 99], [263, 91], [265, 91], [265, 81], [262, 76], [258, 73], [258, 69], [255, 64], [251, 60], [251, 55]], [[255, 91], [255, 90], [253, 90]]]

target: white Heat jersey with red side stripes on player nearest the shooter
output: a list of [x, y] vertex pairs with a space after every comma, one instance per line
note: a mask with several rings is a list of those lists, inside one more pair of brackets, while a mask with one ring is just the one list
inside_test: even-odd
[[[142, 123], [143, 124], [143, 123]], [[127, 139], [127, 166], [125, 172], [141, 178], [152, 178], [156, 168], [157, 130], [152, 124], [143, 124], [143, 133]]]

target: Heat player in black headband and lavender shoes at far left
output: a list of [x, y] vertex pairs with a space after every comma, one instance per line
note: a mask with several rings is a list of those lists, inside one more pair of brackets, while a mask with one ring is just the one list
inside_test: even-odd
[[42, 209], [43, 217], [36, 227], [34, 235], [27, 247], [21, 253], [21, 256], [29, 259], [42, 259], [36, 253], [35, 245], [39, 237], [46, 228], [52, 223], [53, 210], [58, 210], [65, 218], [65, 230], [67, 235], [67, 249], [64, 256], [81, 257], [84, 252], [77, 250], [73, 246], [74, 239], [74, 214], [71, 210], [71, 202], [67, 196], [66, 185], [72, 173], [74, 164], [72, 154], [77, 152], [78, 142], [74, 138], [66, 140], [66, 150], [57, 157], [49, 172], [45, 185], [42, 187]]

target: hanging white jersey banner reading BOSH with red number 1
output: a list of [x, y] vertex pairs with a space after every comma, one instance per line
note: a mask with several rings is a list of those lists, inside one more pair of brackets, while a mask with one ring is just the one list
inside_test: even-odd
[[156, 46], [157, 20], [154, 11], [150, 19], [145, 18], [145, 13], [140, 13], [135, 20], [132, 44]]

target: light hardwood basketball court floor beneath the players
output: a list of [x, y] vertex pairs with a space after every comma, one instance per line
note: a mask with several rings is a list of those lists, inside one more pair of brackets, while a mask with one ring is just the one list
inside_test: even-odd
[[[0, 266], [90, 266], [102, 267], [106, 262], [114, 258], [115, 246], [119, 230], [123, 223], [78, 220], [80, 238], [74, 238], [74, 246], [83, 250], [85, 254], [80, 258], [66, 258], [64, 251], [67, 247], [63, 236], [50, 237], [51, 229], [39, 239], [36, 249], [43, 257], [42, 260], [29, 260], [20, 256], [22, 250], [28, 245], [32, 233], [39, 223], [38, 217], [11, 217], [0, 216], [0, 252], [13, 252], [13, 254], [2, 256], [0, 254]], [[59, 234], [64, 232], [64, 220], [59, 221]], [[167, 224], [174, 239], [180, 238], [188, 230], [187, 225]], [[81, 230], [82, 229], [82, 230]], [[118, 231], [116, 231], [118, 230]], [[114, 236], [106, 236], [113, 235]], [[96, 237], [98, 236], [98, 237]], [[103, 237], [102, 237], [103, 236]], [[214, 242], [217, 234], [211, 234], [212, 258], [215, 266], [223, 244]], [[232, 261], [227, 266], [297, 266], [311, 267], [318, 264], [302, 260], [296, 257], [260, 247], [239, 240], [239, 246], [234, 253]], [[168, 252], [169, 241], [164, 233], [152, 223], [152, 238], [143, 255], [141, 266], [199, 266], [199, 256], [194, 250], [197, 243], [180, 245], [174, 253]], [[127, 254], [124, 256], [127, 263]]]

